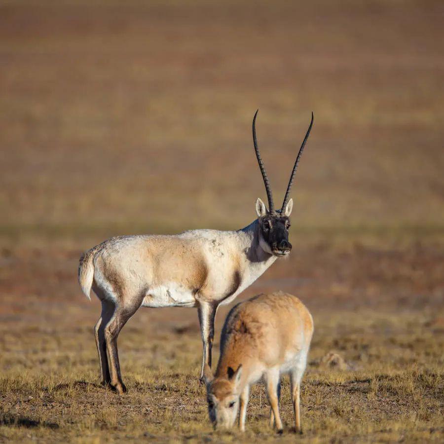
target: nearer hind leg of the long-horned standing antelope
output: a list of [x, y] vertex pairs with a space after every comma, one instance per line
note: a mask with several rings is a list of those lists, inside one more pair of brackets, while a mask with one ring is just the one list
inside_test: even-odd
[[[120, 301], [123, 298], [120, 298]], [[126, 324], [128, 319], [137, 311], [140, 307], [142, 300], [138, 298], [132, 301], [128, 305], [116, 305], [111, 320], [105, 326], [105, 340], [107, 343], [109, 367], [111, 373], [111, 386], [119, 393], [125, 393], [126, 387], [122, 381], [120, 375], [119, 356], [117, 351], [117, 336], [122, 330], [122, 327]]]

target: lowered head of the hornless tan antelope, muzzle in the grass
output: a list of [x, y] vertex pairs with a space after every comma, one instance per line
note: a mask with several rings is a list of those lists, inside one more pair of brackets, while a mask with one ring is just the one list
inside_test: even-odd
[[205, 366], [204, 381], [207, 387], [208, 414], [216, 429], [229, 429], [236, 421], [241, 376], [242, 366], [239, 366], [236, 371], [229, 367], [226, 377], [214, 377], [210, 367]]

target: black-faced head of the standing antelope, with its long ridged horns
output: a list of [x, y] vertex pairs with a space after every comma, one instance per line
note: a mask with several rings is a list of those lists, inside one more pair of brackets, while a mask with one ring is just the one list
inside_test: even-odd
[[[259, 110], [258, 110], [259, 111]], [[253, 118], [253, 142], [255, 145], [256, 157], [258, 158], [260, 172], [262, 173], [263, 183], [265, 185], [265, 191], [268, 198], [268, 210], [262, 200], [256, 201], [256, 213], [258, 214], [259, 221], [259, 245], [266, 253], [274, 256], [282, 257], [287, 256], [292, 250], [292, 244], [288, 240], [288, 230], [290, 228], [290, 214], [293, 209], [293, 199], [289, 200], [290, 189], [293, 185], [293, 179], [295, 178], [297, 164], [299, 163], [300, 156], [307, 142], [308, 135], [310, 134], [311, 127], [313, 125], [313, 113], [311, 113], [311, 122], [305, 134], [302, 145], [299, 148], [299, 152], [296, 157], [295, 165], [293, 167], [290, 181], [285, 193], [284, 202], [280, 210], [275, 210], [273, 202], [273, 194], [271, 192], [270, 182], [265, 171], [265, 166], [260, 157], [258, 141], [256, 139], [256, 111]]]

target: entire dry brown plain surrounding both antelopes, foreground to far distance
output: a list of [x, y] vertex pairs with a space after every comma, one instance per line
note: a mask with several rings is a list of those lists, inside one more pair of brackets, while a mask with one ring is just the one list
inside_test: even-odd
[[279, 441], [443, 442], [443, 15], [438, 1], [1, 2], [0, 441], [276, 439], [261, 387], [246, 435], [211, 429], [194, 309], [141, 309], [119, 336], [129, 393], [99, 387], [99, 303], [76, 276], [112, 235], [251, 222], [259, 107], [276, 200], [315, 112], [294, 250], [241, 296], [281, 289], [314, 317], [304, 435], [284, 379]]

